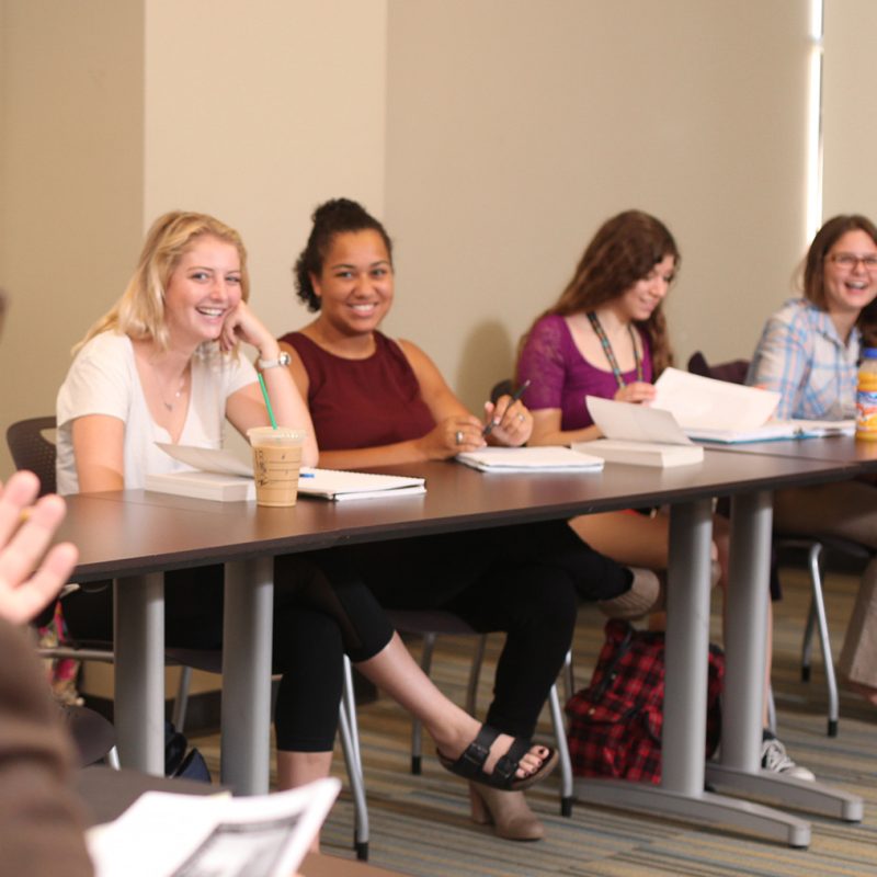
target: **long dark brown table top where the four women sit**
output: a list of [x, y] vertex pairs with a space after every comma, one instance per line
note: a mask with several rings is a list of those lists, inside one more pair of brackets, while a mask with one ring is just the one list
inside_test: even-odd
[[68, 497], [58, 538], [79, 546], [73, 579], [136, 576], [206, 562], [456, 529], [684, 502], [852, 477], [844, 460], [709, 451], [703, 464], [665, 469], [607, 464], [602, 472], [483, 474], [455, 463], [376, 471], [426, 478], [426, 493], [292, 509], [209, 502], [143, 490]]

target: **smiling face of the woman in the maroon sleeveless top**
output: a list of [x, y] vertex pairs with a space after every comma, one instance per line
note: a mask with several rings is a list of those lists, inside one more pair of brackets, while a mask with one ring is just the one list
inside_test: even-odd
[[392, 264], [373, 229], [335, 235], [320, 275], [310, 280], [320, 299], [320, 321], [345, 337], [373, 332], [392, 304]]

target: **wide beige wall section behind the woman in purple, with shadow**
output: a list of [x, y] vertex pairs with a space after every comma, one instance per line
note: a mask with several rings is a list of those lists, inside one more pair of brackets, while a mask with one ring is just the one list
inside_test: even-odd
[[806, 5], [390, 0], [391, 326], [478, 405], [639, 207], [682, 249], [683, 362], [750, 355], [804, 241]]

